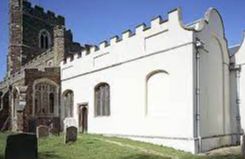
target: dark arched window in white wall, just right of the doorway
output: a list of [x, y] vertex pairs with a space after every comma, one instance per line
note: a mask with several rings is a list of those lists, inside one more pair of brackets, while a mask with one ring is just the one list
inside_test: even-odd
[[101, 83], [95, 87], [95, 116], [110, 115], [110, 86]]

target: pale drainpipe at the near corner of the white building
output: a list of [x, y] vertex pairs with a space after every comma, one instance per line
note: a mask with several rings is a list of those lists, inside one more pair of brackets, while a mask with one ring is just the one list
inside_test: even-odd
[[202, 150], [202, 138], [200, 133], [200, 49], [202, 49], [204, 43], [200, 41], [200, 39], [196, 39], [195, 48], [196, 48], [196, 112], [195, 112], [195, 138], [198, 140], [198, 153]]

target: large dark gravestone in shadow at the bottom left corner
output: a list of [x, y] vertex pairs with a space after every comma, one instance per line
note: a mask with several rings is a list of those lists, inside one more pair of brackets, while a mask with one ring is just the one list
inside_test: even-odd
[[37, 149], [36, 135], [9, 135], [5, 149], [5, 159], [37, 159]]

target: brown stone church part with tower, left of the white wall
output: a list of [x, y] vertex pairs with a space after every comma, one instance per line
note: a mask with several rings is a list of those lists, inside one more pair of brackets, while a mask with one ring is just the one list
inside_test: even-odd
[[0, 82], [0, 131], [60, 130], [60, 67], [63, 58], [90, 46], [73, 42], [65, 18], [27, 0], [9, 0], [9, 51]]

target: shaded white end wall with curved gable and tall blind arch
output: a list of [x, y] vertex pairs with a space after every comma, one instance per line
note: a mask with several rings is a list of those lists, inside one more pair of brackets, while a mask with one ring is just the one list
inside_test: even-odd
[[[196, 34], [204, 43], [200, 49], [200, 136], [202, 151], [236, 143], [231, 134], [236, 115], [230, 103], [230, 73], [223, 22], [213, 9], [208, 24]], [[237, 139], [237, 138], [236, 138]]]

